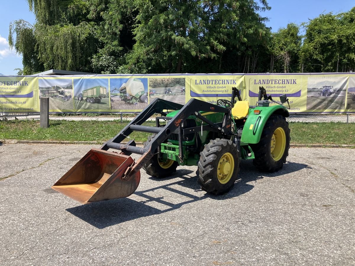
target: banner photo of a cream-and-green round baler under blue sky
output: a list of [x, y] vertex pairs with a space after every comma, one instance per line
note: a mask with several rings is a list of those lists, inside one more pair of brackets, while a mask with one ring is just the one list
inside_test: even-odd
[[111, 110], [143, 110], [148, 105], [147, 78], [110, 78]]

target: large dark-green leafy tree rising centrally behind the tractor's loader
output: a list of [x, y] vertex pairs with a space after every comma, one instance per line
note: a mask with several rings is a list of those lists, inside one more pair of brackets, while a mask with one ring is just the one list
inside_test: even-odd
[[269, 9], [264, 0], [261, 6], [249, 0], [135, 3], [136, 44], [128, 68], [142, 73], [198, 72], [206, 64], [210, 70], [221, 70], [224, 57], [234, 50], [245, 51], [252, 40], [262, 42], [267, 32], [263, 24], [267, 18], [257, 14]]

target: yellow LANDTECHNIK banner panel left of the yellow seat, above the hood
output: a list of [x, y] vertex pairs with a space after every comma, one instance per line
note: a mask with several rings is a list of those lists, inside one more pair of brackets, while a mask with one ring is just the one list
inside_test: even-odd
[[[190, 77], [190, 98], [216, 104], [218, 99], [230, 98], [232, 87], [240, 90], [246, 99], [244, 74], [241, 75], [201, 75]], [[186, 99], [188, 100], [188, 99]]]

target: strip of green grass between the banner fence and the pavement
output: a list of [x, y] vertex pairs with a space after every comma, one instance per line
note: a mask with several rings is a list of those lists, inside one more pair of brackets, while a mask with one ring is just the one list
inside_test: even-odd
[[[12, 120], [0, 122], [0, 140], [59, 140], [104, 142], [121, 131], [124, 123], [114, 121], [54, 121], [40, 128], [39, 121]], [[155, 122], [145, 122], [154, 126]], [[290, 123], [292, 144], [355, 144], [355, 123]], [[149, 133], [133, 132], [130, 137], [144, 142]]]

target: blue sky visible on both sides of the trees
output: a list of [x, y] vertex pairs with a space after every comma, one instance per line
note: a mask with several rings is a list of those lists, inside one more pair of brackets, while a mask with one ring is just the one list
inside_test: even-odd
[[[284, 28], [288, 23], [300, 24], [308, 19], [318, 17], [322, 13], [349, 11], [355, 6], [354, 0], [268, 0], [270, 11], [262, 13], [268, 17], [267, 27], [273, 32]], [[26, 0], [0, 0], [0, 73], [5, 75], [16, 75], [15, 68], [22, 68], [21, 55], [9, 49], [9, 24], [13, 20], [23, 19], [34, 24], [35, 17], [28, 9]]]

